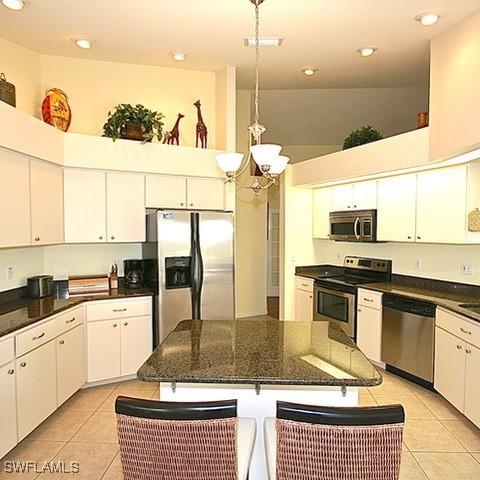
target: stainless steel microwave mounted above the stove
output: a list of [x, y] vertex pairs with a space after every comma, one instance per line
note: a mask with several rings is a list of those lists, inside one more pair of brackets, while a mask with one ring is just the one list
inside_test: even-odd
[[377, 211], [331, 212], [330, 239], [343, 242], [376, 242]]

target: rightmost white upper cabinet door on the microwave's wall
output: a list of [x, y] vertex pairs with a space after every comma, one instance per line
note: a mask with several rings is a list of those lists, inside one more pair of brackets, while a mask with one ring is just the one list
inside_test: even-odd
[[466, 240], [467, 167], [461, 165], [417, 175], [417, 241]]

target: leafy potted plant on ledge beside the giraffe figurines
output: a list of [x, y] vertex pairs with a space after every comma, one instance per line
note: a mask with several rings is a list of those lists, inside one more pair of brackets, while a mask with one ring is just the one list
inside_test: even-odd
[[103, 126], [103, 136], [113, 141], [118, 138], [151, 142], [153, 137], [159, 141], [163, 137], [163, 113], [154, 112], [143, 105], [121, 103], [113, 112], [108, 112], [108, 118]]

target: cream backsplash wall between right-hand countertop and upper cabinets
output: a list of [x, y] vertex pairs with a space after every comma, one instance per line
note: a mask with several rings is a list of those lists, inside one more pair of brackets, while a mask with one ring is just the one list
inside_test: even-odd
[[[342, 264], [346, 255], [393, 260], [394, 273], [480, 284], [478, 245], [427, 245], [410, 243], [345, 243], [314, 240], [316, 263]], [[417, 259], [421, 268], [416, 269]], [[473, 275], [461, 275], [460, 263], [471, 263]]]

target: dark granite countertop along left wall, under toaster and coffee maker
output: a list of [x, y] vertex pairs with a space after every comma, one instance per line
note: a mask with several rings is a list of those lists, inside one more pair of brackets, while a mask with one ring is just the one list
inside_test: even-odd
[[61, 291], [56, 297], [51, 296], [40, 299], [19, 298], [0, 303], [0, 337], [84, 302], [144, 297], [148, 295], [152, 295], [152, 292], [145, 288], [135, 290], [124, 288], [105, 295], [75, 295], [74, 297], [68, 297], [68, 292]]

